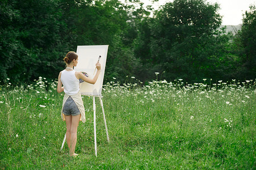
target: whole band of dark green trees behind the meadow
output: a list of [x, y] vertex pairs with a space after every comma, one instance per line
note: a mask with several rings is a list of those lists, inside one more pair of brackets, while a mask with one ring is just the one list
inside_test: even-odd
[[255, 7], [235, 36], [219, 28], [218, 10], [205, 0], [175, 0], [157, 11], [141, 1], [3, 0], [0, 83], [55, 79], [77, 45], [109, 45], [105, 82], [136, 76], [147, 83], [156, 72], [191, 83], [254, 79]]

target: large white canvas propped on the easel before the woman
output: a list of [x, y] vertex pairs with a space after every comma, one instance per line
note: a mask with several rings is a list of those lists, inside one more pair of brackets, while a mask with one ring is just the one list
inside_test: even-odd
[[98, 57], [101, 63], [101, 72], [98, 76], [97, 82], [95, 84], [89, 84], [86, 82], [80, 83], [80, 92], [82, 95], [87, 96], [101, 96], [102, 84], [104, 80], [106, 57], [108, 54], [109, 45], [81, 45], [77, 46], [76, 53], [79, 56], [79, 62], [75, 67], [76, 71], [84, 71], [88, 74], [89, 78], [93, 78], [96, 74], [94, 70], [96, 69], [96, 63]]

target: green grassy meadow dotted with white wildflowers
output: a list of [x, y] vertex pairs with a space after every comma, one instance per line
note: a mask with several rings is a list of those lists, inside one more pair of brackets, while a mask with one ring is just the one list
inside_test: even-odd
[[56, 80], [0, 87], [1, 169], [256, 169], [255, 81], [143, 84], [115, 79], [102, 91], [109, 139], [96, 97], [83, 96], [76, 158], [60, 150], [65, 122]]

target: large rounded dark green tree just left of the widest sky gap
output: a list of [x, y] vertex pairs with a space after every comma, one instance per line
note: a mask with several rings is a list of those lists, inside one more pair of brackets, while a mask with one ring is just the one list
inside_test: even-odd
[[220, 27], [218, 8], [217, 3], [203, 0], [176, 0], [164, 5], [151, 24], [151, 58], [159, 69], [155, 71], [166, 71], [168, 79], [204, 77], [202, 68], [211, 54], [202, 52]]

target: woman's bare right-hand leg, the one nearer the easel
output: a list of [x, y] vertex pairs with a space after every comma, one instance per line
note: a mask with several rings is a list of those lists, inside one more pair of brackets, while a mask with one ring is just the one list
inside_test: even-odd
[[[80, 114], [77, 116], [72, 116], [72, 124], [71, 124], [71, 143], [70, 143], [70, 152], [71, 156], [75, 156], [75, 148], [76, 148], [76, 141], [77, 141], [77, 126], [79, 125]], [[67, 119], [66, 119], [67, 121]]]

